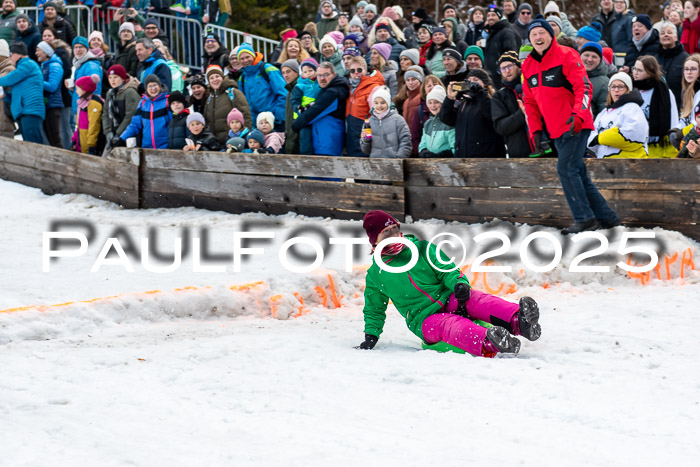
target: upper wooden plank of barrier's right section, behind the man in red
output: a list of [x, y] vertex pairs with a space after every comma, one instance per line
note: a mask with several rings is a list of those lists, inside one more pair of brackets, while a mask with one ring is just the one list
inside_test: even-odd
[[[560, 188], [556, 159], [408, 159], [406, 184], [497, 188]], [[587, 159], [599, 188], [700, 190], [700, 161], [693, 159]]]

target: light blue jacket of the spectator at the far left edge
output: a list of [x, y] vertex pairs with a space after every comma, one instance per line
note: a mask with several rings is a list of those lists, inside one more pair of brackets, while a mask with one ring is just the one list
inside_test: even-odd
[[17, 69], [0, 78], [0, 86], [12, 87], [12, 118], [18, 120], [24, 115], [34, 115], [43, 119], [44, 77], [39, 65], [29, 57], [17, 62]]

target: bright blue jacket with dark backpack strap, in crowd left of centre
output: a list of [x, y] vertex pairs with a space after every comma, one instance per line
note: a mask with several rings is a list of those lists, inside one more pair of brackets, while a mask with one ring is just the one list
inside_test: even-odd
[[[263, 77], [263, 73], [267, 78]], [[287, 107], [286, 82], [282, 73], [269, 63], [259, 62], [243, 68], [238, 78], [238, 87], [250, 105], [253, 122], [258, 119], [260, 112], [272, 112], [275, 123], [284, 123], [284, 112]]]

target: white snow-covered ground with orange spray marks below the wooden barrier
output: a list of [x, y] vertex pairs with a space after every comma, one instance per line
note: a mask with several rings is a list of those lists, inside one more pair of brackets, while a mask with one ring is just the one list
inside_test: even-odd
[[[654, 231], [661, 263], [648, 279], [615, 266], [627, 259], [621, 228], [606, 233], [606, 254], [583, 263], [607, 273], [570, 272], [581, 249], [553, 229], [539, 229], [564, 245], [553, 271], [532, 272], [513, 255], [496, 258], [509, 273], [467, 269], [476, 288], [531, 295], [542, 311], [539, 341], [524, 341], [515, 358], [483, 359], [420, 350], [395, 310], [376, 350], [353, 349], [363, 338], [367, 248], [349, 272], [334, 247], [306, 274], [287, 271], [277, 252], [291, 236], [355, 236], [348, 229], [359, 222], [127, 211], [4, 181], [0, 198], [2, 466], [697, 464], [700, 273], [691, 262], [700, 245], [677, 233]], [[42, 272], [42, 233], [67, 219], [90, 223], [94, 238], [85, 255]], [[133, 273], [110, 264], [90, 272], [115, 229], [140, 251], [149, 226], [164, 254], [203, 227], [219, 255], [234, 252], [236, 232], [275, 237], [249, 245], [265, 252], [240, 272], [230, 258], [203, 260], [226, 272], [193, 272], [192, 254], [166, 273], [136, 256]], [[477, 234], [501, 231], [515, 253], [534, 231], [498, 222], [411, 229], [453, 231], [472, 247]], [[553, 250], [537, 242], [544, 264]]]

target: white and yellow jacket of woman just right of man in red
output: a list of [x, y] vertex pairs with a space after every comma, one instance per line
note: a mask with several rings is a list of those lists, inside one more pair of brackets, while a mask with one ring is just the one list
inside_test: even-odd
[[596, 157], [602, 158], [647, 158], [647, 136], [649, 124], [640, 105], [642, 96], [633, 90], [623, 94], [609, 107], [598, 114], [595, 128], [588, 144], [598, 137], [598, 144], [591, 146]]

